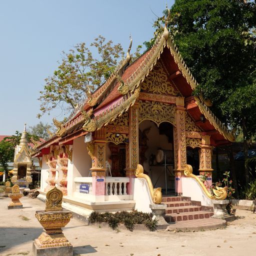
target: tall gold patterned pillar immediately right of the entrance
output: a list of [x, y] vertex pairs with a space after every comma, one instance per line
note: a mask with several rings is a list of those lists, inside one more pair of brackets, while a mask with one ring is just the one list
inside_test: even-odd
[[186, 164], [184, 97], [176, 97], [176, 127], [173, 129], [175, 154], [175, 192], [182, 193], [181, 176]]

